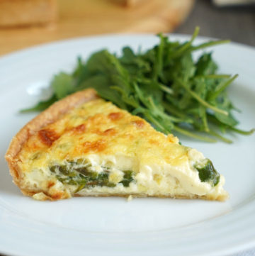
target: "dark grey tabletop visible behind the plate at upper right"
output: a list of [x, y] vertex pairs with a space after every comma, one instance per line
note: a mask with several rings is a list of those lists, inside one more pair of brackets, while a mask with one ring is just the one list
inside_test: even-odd
[[[210, 1], [197, 0], [190, 16], [175, 33], [192, 34], [195, 26], [200, 26], [200, 35], [255, 46], [255, 6], [219, 9]], [[239, 255], [251, 256], [254, 252], [233, 256]]]

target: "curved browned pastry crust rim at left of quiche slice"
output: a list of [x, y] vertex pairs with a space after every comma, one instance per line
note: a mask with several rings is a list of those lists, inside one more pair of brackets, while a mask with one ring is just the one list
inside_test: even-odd
[[18, 167], [18, 153], [21, 151], [23, 144], [26, 143], [31, 135], [40, 130], [40, 128], [47, 126], [50, 123], [54, 123], [71, 109], [94, 99], [98, 99], [94, 89], [86, 89], [69, 95], [64, 99], [55, 102], [55, 104], [52, 104], [52, 106], [33, 118], [13, 137], [6, 152], [5, 159], [8, 163], [11, 176], [13, 177], [13, 182], [21, 189], [23, 194], [33, 196], [33, 194], [36, 193], [22, 189], [20, 186], [22, 171]]

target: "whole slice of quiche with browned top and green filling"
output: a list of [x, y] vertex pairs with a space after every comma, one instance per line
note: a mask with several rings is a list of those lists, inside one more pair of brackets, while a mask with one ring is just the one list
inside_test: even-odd
[[79, 91], [47, 108], [13, 138], [14, 183], [38, 200], [157, 196], [224, 201], [224, 177], [195, 149], [138, 116]]

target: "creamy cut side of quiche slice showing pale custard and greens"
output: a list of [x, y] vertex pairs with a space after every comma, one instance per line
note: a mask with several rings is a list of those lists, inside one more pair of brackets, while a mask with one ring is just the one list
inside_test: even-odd
[[[192, 197], [210, 194], [210, 199], [225, 195], [223, 177], [214, 169], [212, 162], [193, 149], [188, 150], [188, 166], [173, 167], [139, 165], [139, 160], [125, 157], [98, 157], [50, 162], [45, 169], [33, 169], [25, 174], [26, 186], [65, 191], [66, 196], [161, 196]], [[120, 160], [118, 160], [118, 158]], [[124, 162], [124, 165], [123, 165]], [[127, 165], [128, 163], [128, 165]], [[185, 169], [184, 169], [185, 168]], [[45, 182], [47, 177], [47, 182]], [[56, 193], [59, 196], [58, 193]], [[195, 196], [196, 195], [196, 196]], [[33, 195], [40, 199], [41, 193]], [[191, 196], [191, 195], [190, 195]]]

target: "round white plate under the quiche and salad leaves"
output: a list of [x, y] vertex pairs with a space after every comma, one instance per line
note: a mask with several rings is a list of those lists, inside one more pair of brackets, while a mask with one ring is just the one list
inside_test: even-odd
[[[187, 39], [173, 35], [173, 39]], [[199, 43], [205, 40], [200, 38]], [[33, 114], [18, 110], [38, 101], [35, 89], [60, 70], [72, 70], [77, 55], [123, 45], [143, 49], [152, 35], [78, 38], [30, 48], [0, 58], [1, 176], [0, 252], [11, 255], [227, 255], [255, 245], [255, 136], [232, 135], [234, 144], [198, 148], [225, 175], [230, 199], [199, 200], [74, 198], [34, 201], [11, 183], [4, 154], [13, 135]], [[239, 73], [229, 93], [242, 109], [241, 128], [255, 127], [255, 50], [231, 43], [214, 48], [220, 71]], [[32, 90], [33, 94], [36, 90]]]

